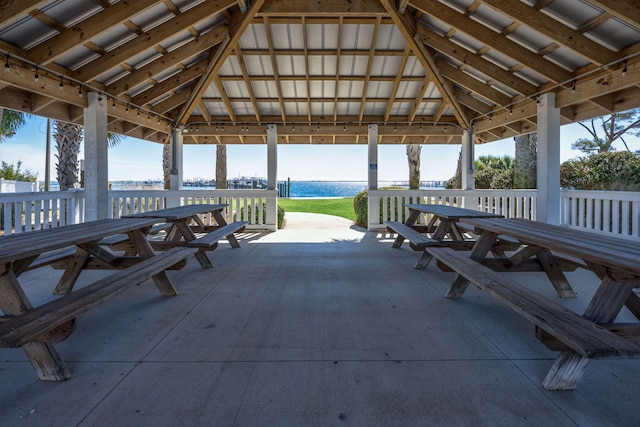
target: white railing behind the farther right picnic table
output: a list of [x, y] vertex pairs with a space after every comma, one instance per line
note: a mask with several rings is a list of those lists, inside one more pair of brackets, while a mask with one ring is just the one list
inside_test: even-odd
[[[536, 219], [536, 190], [370, 190], [369, 230], [384, 229], [386, 221], [404, 222], [409, 203], [436, 203], [484, 212], [506, 218]], [[419, 223], [426, 223], [425, 214]]]

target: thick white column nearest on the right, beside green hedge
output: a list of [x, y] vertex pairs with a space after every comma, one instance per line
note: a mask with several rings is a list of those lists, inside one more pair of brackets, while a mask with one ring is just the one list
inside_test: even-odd
[[560, 109], [554, 93], [538, 98], [537, 160], [536, 219], [560, 224]]

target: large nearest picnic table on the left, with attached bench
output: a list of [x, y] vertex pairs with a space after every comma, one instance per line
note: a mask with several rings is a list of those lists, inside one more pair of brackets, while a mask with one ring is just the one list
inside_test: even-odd
[[[175, 248], [156, 254], [146, 237], [155, 222], [105, 219], [0, 237], [0, 347], [22, 347], [41, 379], [65, 380], [71, 374], [53, 342], [73, 332], [79, 314], [148, 278], [153, 278], [161, 294], [177, 295], [165, 270], [196, 249]], [[137, 256], [117, 256], [99, 244], [121, 233], [128, 236]], [[55, 290], [62, 296], [33, 307], [19, 281], [21, 274], [39, 257], [67, 247], [75, 247], [75, 252], [63, 262], [64, 272]], [[89, 265], [98, 268], [97, 264], [118, 271], [73, 291], [80, 273]]]

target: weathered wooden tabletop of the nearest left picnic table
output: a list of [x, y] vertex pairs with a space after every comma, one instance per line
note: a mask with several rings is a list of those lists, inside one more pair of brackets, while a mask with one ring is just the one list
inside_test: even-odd
[[101, 219], [2, 236], [0, 237], [0, 264], [67, 246], [95, 242], [114, 234], [151, 227], [156, 222], [157, 218]]

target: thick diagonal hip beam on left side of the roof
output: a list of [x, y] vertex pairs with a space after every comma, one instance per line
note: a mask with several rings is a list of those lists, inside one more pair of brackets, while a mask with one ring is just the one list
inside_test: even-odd
[[178, 124], [184, 124], [187, 122], [189, 115], [191, 115], [195, 109], [199, 99], [202, 98], [202, 95], [204, 95], [209, 84], [218, 74], [218, 71], [220, 71], [222, 64], [229, 54], [231, 54], [232, 50], [238, 43], [240, 36], [242, 36], [242, 33], [247, 29], [253, 17], [264, 4], [264, 1], [265, 0], [255, 0], [251, 3], [251, 6], [245, 13], [242, 13], [240, 9], [234, 11], [231, 21], [229, 22], [229, 32], [224, 41], [218, 47], [216, 54], [211, 58], [207, 69], [202, 74], [202, 77], [196, 84], [196, 87], [191, 94], [191, 98], [187, 101], [184, 108], [178, 115]]

